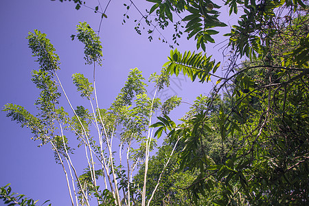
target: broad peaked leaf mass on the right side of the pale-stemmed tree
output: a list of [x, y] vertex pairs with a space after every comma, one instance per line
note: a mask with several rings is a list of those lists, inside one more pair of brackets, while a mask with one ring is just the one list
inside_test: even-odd
[[[150, 117], [161, 106], [158, 98], [148, 97], [144, 80], [139, 69], [131, 69], [124, 87], [112, 106], [106, 110], [100, 110], [106, 130], [116, 133], [117, 129], [121, 128], [118, 137], [122, 144], [131, 147], [130, 157], [134, 161], [145, 157], [147, 141], [145, 136]], [[133, 142], [138, 142], [139, 148], [133, 148], [131, 145]], [[150, 148], [153, 147], [155, 147], [155, 141], [151, 142]]]

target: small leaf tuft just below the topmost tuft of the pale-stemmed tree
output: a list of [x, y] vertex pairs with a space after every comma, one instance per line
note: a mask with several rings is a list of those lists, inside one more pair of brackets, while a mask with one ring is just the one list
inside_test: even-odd
[[88, 100], [90, 100], [90, 96], [93, 91], [93, 87], [91, 86], [92, 83], [90, 83], [89, 80], [81, 73], [74, 73], [72, 78], [73, 83], [77, 87], [78, 91], [82, 93], [82, 98], [86, 97]]

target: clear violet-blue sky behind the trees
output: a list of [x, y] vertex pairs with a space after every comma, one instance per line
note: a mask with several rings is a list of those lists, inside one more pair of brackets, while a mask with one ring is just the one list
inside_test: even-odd
[[[107, 1], [101, 2], [105, 8]], [[129, 4], [128, 2], [111, 1], [106, 10], [108, 18], [102, 21], [100, 38], [104, 60], [96, 77], [101, 108], [108, 108], [115, 100], [126, 81], [129, 69], [137, 67], [143, 71], [147, 79], [151, 73], [159, 73], [170, 54], [168, 44], [158, 40], [162, 36], [155, 33], [154, 41], [150, 43], [146, 30], [142, 30], [144, 34], [141, 36], [135, 32], [133, 20], [140, 19], [141, 16], [134, 8], [130, 8], [130, 19], [126, 19], [127, 23], [122, 25], [123, 14], [126, 13], [123, 3]], [[142, 12], [145, 8], [149, 10], [152, 5], [144, 1], [135, 3]], [[98, 1], [89, 0], [87, 5], [95, 7]], [[71, 41], [70, 36], [76, 34], [76, 25], [80, 21], [87, 21], [93, 30], [96, 30], [100, 23], [100, 15], [89, 8], [82, 7], [77, 11], [74, 7], [72, 2], [60, 3], [50, 0], [10, 0], [1, 3], [1, 108], [5, 104], [14, 103], [24, 106], [30, 113], [36, 113], [34, 102], [38, 96], [38, 89], [32, 84], [31, 71], [38, 69], [38, 64], [34, 61], [35, 58], [32, 57], [25, 39], [27, 33], [35, 29], [47, 34], [47, 38], [56, 48], [61, 62], [58, 76], [73, 105], [86, 104], [76, 92], [71, 75], [83, 73], [91, 78], [92, 70], [84, 65], [83, 45], [78, 41]], [[163, 35], [170, 39], [172, 30], [164, 31]], [[218, 42], [223, 40], [219, 39]], [[182, 38], [179, 43], [177, 49], [181, 52], [194, 50], [196, 47], [194, 41], [187, 41], [186, 38]], [[222, 51], [219, 50], [222, 45], [214, 46], [207, 47], [207, 54], [213, 54], [214, 58], [218, 59], [217, 62], [222, 61]], [[163, 100], [170, 95], [179, 95], [184, 102], [192, 103], [197, 95], [207, 95], [212, 87], [211, 83], [192, 83], [189, 78], [183, 76], [172, 77], [171, 81], [170, 89], [158, 94]], [[153, 89], [154, 85], [150, 84], [150, 96]], [[68, 108], [65, 101], [62, 101], [62, 104]], [[172, 117], [179, 118], [184, 115], [184, 111], [187, 111], [187, 106], [176, 109]], [[65, 176], [60, 165], [55, 163], [50, 146], [38, 148], [39, 142], [30, 139], [30, 130], [20, 128], [16, 122], [5, 117], [3, 111], [0, 112], [0, 122], [0, 186], [11, 183], [13, 192], [25, 194], [35, 200], [40, 199], [39, 203], [51, 200], [52, 205], [69, 205]], [[78, 157], [73, 161], [79, 170], [84, 168]]]

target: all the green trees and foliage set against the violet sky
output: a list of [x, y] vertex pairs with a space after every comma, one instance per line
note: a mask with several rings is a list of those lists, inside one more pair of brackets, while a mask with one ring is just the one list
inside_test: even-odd
[[[148, 1], [154, 5], [144, 20], [150, 27], [156, 24], [161, 29], [174, 23], [176, 45], [177, 38], [187, 33], [188, 38], [194, 37], [196, 49], [205, 51], [207, 43], [214, 42], [211, 35], [218, 34], [216, 28], [226, 26], [218, 19], [220, 6], [209, 0]], [[77, 9], [84, 3], [74, 2]], [[54, 47], [45, 34], [30, 33], [29, 45], [41, 68], [33, 71], [33, 82], [42, 91], [36, 101], [39, 113], [31, 115], [14, 104], [5, 105], [4, 111], [22, 126], [30, 127], [42, 144], [52, 145], [66, 175], [69, 168], [71, 178], [76, 179], [70, 182], [67, 177], [72, 205], [89, 205], [91, 196], [98, 205], [308, 204], [308, 3], [227, 0], [224, 4], [230, 14], [242, 12], [238, 25], [225, 34], [229, 36], [225, 49], [229, 61], [225, 65], [203, 52], [181, 54], [173, 49], [161, 74], [150, 77], [157, 91], [168, 87], [170, 76], [179, 73], [192, 82], [217, 78], [209, 96], [198, 96], [179, 125], [168, 115], [181, 99], [172, 97], [161, 103], [155, 97], [148, 98], [144, 78], [137, 69], [130, 71], [124, 88], [106, 109], [96, 101], [95, 78], [90, 83], [82, 74], [74, 74], [73, 83], [91, 103], [91, 111], [79, 106], [72, 108], [74, 115], [69, 117], [58, 106], [61, 84]], [[98, 7], [95, 10], [100, 12]], [[150, 15], [155, 19], [150, 21]], [[184, 17], [175, 21], [175, 15]], [[138, 26], [135, 30], [140, 32]], [[148, 31], [150, 40], [153, 30], [157, 27]], [[78, 34], [72, 38], [84, 43], [85, 60], [93, 65], [94, 72], [102, 57], [99, 37], [87, 23], [80, 23]], [[218, 68], [223, 76], [216, 73]], [[152, 124], [152, 113], [157, 109], [162, 115]], [[122, 163], [122, 157], [116, 161], [111, 148], [119, 126], [119, 149], [126, 152], [126, 163]], [[65, 128], [89, 152], [89, 167], [79, 176], [69, 159], [71, 148], [63, 133]], [[157, 146], [155, 137], [165, 139], [157, 154], [150, 157], [150, 150]], [[136, 167], [139, 170], [134, 176]], [[98, 180], [104, 180], [104, 184]], [[100, 189], [103, 185], [105, 190]], [[2, 187], [0, 198], [16, 203], [8, 190], [10, 187]]]

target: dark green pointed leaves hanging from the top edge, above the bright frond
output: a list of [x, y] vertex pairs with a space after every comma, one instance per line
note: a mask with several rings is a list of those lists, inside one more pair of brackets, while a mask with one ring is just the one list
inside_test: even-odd
[[[225, 23], [218, 20], [217, 11], [220, 8], [219, 5], [211, 1], [160, 1], [160, 0], [147, 0], [155, 3], [149, 11], [149, 14], [155, 12], [155, 21], [159, 23], [159, 26], [164, 29], [170, 22], [173, 21], [173, 14], [180, 14], [181, 12], [189, 12], [184, 18], [181, 19], [185, 25], [185, 31], [187, 32], [187, 38], [194, 37], [196, 41], [196, 47], [202, 48], [205, 52], [205, 44], [210, 42], [214, 43], [214, 38], [211, 35], [218, 34], [216, 30], [210, 30], [213, 27], [225, 27]], [[176, 38], [180, 38], [183, 32], [179, 31], [181, 28], [181, 21], [176, 21], [175, 32], [173, 34], [173, 41], [176, 43]]]

